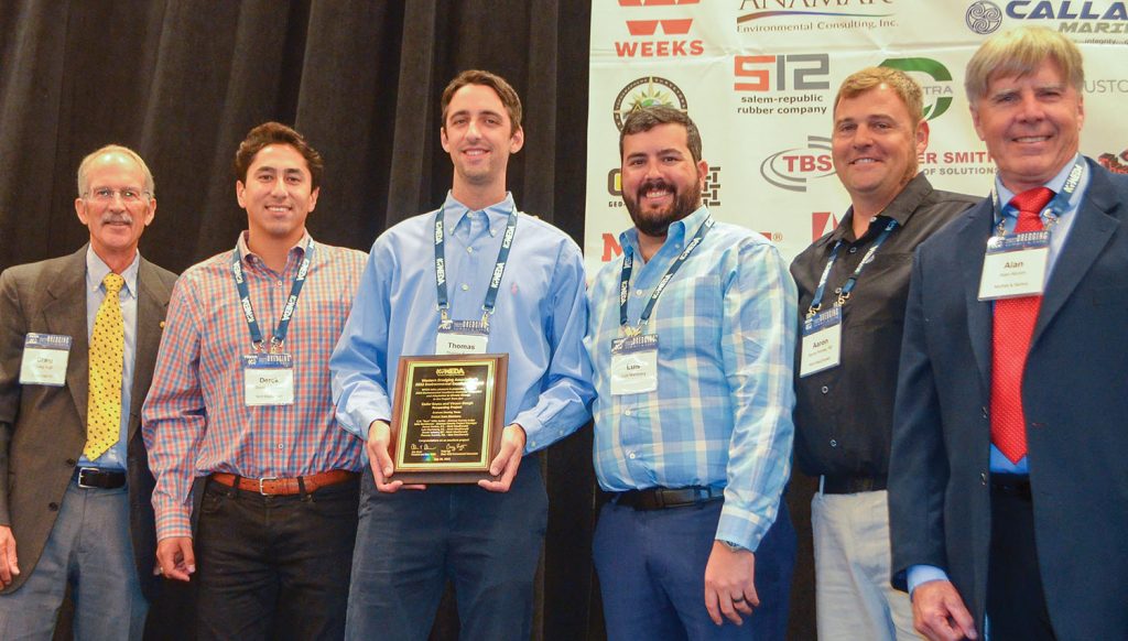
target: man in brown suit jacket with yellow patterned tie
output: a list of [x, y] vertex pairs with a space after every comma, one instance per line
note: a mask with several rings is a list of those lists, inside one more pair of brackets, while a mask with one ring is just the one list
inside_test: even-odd
[[[78, 184], [89, 245], [0, 274], [0, 639], [50, 638], [68, 586], [79, 638], [139, 639], [156, 587], [153, 481], [139, 428], [176, 276], [138, 254], [157, 201], [135, 152], [95, 151]], [[115, 313], [103, 301], [118, 287]], [[109, 333], [121, 360], [106, 362], [121, 362], [122, 376], [91, 393], [103, 309], [121, 319]], [[107, 412], [103, 436], [88, 437], [88, 412]]]

